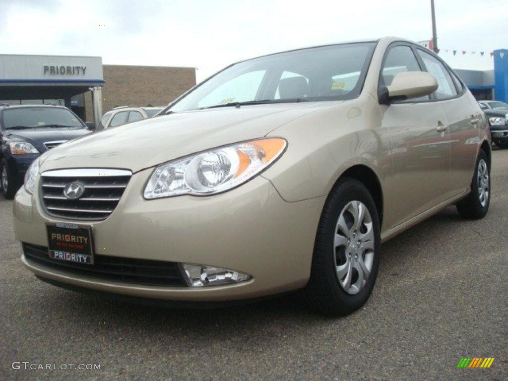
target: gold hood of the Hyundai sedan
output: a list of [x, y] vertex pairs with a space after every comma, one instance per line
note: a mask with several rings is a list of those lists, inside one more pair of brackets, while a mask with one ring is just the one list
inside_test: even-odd
[[122, 168], [138, 172], [206, 149], [262, 138], [282, 124], [340, 101], [248, 105], [158, 116], [52, 149], [41, 171]]

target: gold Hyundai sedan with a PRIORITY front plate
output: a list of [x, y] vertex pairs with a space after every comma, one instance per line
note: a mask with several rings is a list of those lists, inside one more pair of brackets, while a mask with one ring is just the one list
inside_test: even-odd
[[382, 241], [449, 205], [489, 209], [484, 113], [409, 41], [238, 62], [164, 114], [30, 166], [14, 204], [30, 271], [201, 305], [304, 289], [341, 315], [367, 301]]

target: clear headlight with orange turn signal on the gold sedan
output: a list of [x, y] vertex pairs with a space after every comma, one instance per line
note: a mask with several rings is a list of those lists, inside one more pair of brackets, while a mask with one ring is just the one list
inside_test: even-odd
[[190, 155], [155, 168], [145, 199], [213, 195], [232, 189], [266, 169], [284, 152], [286, 141], [260, 139]]

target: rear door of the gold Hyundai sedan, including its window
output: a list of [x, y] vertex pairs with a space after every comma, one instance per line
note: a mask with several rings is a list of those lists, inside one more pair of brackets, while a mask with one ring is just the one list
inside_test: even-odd
[[421, 48], [417, 52], [425, 70], [439, 85], [431, 96], [443, 110], [450, 135], [450, 176], [444, 195], [451, 198], [471, 183], [479, 144], [478, 123], [475, 121], [481, 120], [480, 110], [457, 76], [438, 57]]

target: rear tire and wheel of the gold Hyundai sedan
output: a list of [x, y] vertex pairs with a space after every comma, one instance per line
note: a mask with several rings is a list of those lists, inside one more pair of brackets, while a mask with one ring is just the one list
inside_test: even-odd
[[483, 149], [478, 154], [474, 166], [471, 192], [457, 203], [457, 210], [463, 218], [480, 219], [486, 216], [490, 205], [490, 166], [487, 154]]

